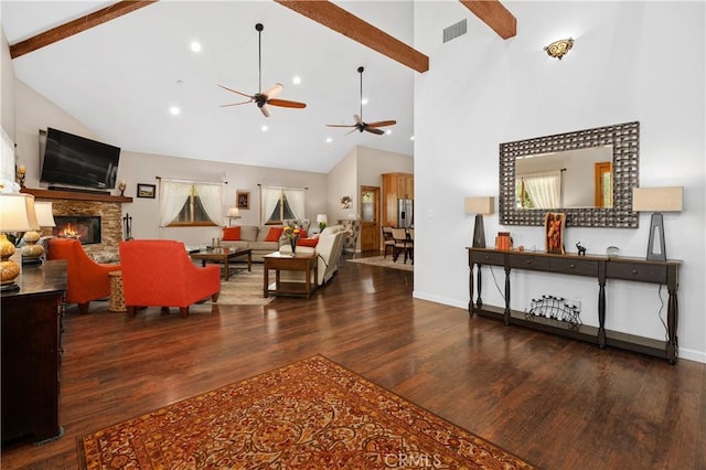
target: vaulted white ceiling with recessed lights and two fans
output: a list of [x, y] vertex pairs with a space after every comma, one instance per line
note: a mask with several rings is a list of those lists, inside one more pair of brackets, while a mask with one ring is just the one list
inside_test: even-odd
[[[109, 3], [3, 0], [2, 26], [13, 45]], [[336, 3], [414, 45], [410, 1]], [[263, 88], [280, 82], [279, 98], [306, 109], [271, 107], [265, 118], [255, 104], [221, 107], [242, 97], [217, 84], [258, 92], [258, 22]], [[201, 52], [190, 49], [193, 41]], [[360, 114], [359, 66], [364, 120], [396, 119], [391, 135], [325, 127], [353, 124]], [[162, 0], [21, 55], [13, 67], [104, 141], [129, 151], [314, 172], [328, 172], [355, 146], [414, 153], [418, 72], [272, 1]], [[181, 113], [170, 114], [172, 107]]]

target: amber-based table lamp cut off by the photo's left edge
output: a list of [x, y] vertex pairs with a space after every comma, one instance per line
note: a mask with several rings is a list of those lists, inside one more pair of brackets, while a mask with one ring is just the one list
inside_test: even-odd
[[39, 229], [34, 213], [34, 196], [23, 193], [0, 193], [0, 289], [19, 290], [17, 277], [20, 265], [14, 259], [14, 244], [7, 237], [10, 232]]

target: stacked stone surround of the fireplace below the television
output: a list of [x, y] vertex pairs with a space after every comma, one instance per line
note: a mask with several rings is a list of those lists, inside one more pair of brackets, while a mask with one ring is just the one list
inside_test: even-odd
[[[42, 201], [41, 197], [36, 200]], [[45, 201], [52, 201], [54, 203], [53, 212], [55, 216], [100, 216], [100, 243], [84, 245], [86, 253], [93, 256], [118, 250], [118, 243], [122, 239], [122, 203], [60, 199]], [[44, 228], [42, 235], [52, 235], [52, 229]]]

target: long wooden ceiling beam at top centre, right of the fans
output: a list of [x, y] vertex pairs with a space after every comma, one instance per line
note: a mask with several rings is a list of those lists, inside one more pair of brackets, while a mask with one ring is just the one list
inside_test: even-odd
[[328, 0], [275, 1], [414, 71], [429, 70], [428, 56]]

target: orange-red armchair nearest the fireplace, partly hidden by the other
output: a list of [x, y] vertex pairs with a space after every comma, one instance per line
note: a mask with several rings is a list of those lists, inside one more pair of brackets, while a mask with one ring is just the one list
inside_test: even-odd
[[120, 265], [99, 265], [74, 238], [50, 238], [47, 246], [46, 259], [66, 259], [66, 302], [78, 303], [79, 313], [88, 313], [92, 300], [110, 295], [108, 273], [119, 270]]

